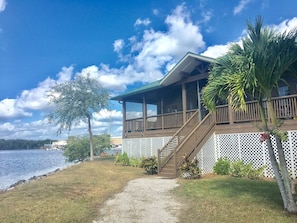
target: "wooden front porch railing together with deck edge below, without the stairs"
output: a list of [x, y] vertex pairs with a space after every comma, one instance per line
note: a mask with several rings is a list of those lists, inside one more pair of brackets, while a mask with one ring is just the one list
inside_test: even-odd
[[[283, 121], [282, 128], [297, 130], [297, 94], [275, 97], [272, 101], [276, 117]], [[123, 123], [124, 138], [173, 135], [195, 111], [196, 109], [126, 119]], [[265, 112], [267, 114], [267, 110]], [[205, 117], [207, 111], [199, 110], [198, 114], [197, 122]], [[215, 117], [216, 130], [219, 133], [259, 131], [261, 118], [256, 101], [247, 102], [246, 111], [234, 111], [228, 104], [217, 106]]]

